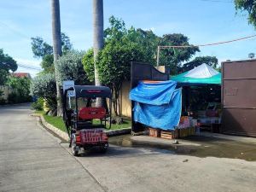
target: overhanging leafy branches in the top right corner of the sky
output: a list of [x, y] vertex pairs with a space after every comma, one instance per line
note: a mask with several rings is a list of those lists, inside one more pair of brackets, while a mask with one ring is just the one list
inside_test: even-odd
[[235, 0], [236, 10], [246, 11], [247, 20], [256, 27], [256, 6], [254, 0]]

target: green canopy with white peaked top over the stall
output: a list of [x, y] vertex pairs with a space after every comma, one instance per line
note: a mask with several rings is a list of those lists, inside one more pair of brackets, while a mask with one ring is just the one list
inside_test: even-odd
[[178, 84], [221, 84], [221, 73], [204, 63], [171, 79]]

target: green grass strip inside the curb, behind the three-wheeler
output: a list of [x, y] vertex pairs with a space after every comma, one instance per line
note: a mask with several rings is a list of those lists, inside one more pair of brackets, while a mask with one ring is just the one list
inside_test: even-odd
[[[44, 119], [47, 123], [49, 123], [50, 125], [54, 125], [56, 128], [60, 129], [61, 131], [65, 131], [66, 130], [66, 126], [64, 124], [64, 121], [61, 117], [54, 117], [54, 116], [50, 116], [45, 114], [44, 111], [36, 111], [36, 113], [42, 114], [44, 116]], [[93, 123], [95, 124], [100, 124], [100, 120], [98, 119], [94, 119]], [[107, 128], [108, 128], [108, 123], [107, 123]], [[113, 124], [111, 125], [111, 129], [110, 130], [119, 130], [119, 129], [123, 129], [123, 128], [129, 128], [131, 127], [131, 120], [130, 119], [124, 119], [124, 123], [120, 124], [120, 125], [116, 125]]]

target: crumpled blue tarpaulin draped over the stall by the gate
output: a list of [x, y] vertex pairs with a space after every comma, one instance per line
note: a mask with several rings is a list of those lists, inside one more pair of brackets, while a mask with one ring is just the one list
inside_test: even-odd
[[144, 125], [163, 130], [174, 130], [182, 109], [181, 89], [175, 89], [175, 81], [160, 83], [140, 82], [130, 92], [135, 102], [133, 119]]

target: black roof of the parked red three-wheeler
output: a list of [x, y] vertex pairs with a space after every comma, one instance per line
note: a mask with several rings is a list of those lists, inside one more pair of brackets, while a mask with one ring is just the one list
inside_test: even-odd
[[77, 97], [108, 97], [111, 98], [111, 90], [106, 86], [75, 85], [74, 90]]

